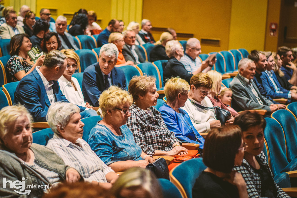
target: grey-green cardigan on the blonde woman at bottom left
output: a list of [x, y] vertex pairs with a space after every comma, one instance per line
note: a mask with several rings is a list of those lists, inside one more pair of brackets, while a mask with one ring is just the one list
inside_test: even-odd
[[[0, 146], [1, 150], [7, 150], [6, 147]], [[30, 149], [35, 155], [34, 162], [42, 168], [48, 169], [58, 173], [60, 180], [63, 181], [66, 179], [66, 170], [69, 169], [69, 166], [66, 166], [62, 158], [60, 158], [52, 150], [48, 149], [45, 146], [39, 144], [32, 144]], [[12, 153], [15, 155], [14, 153]], [[0, 153], [0, 195], [1, 197], [42, 197], [42, 189], [31, 189], [31, 193], [27, 194], [18, 194], [14, 190], [19, 191], [20, 189], [10, 188], [10, 183], [7, 181], [10, 180], [14, 182], [15, 180], [22, 181], [22, 177], [25, 178], [25, 189], [22, 192], [25, 192], [27, 185], [42, 185], [41, 180], [31, 173], [28, 169], [23, 168], [20, 162], [12, 158], [8, 154]], [[3, 187], [3, 178], [6, 178], [6, 188]], [[28, 180], [27, 180], [28, 178]]]

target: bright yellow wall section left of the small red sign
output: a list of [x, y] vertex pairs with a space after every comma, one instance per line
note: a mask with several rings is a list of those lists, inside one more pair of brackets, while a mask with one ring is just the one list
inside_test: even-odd
[[267, 1], [232, 1], [230, 49], [264, 50]]

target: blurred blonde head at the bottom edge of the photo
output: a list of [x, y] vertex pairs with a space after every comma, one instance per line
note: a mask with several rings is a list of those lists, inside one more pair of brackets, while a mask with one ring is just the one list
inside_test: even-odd
[[121, 198], [163, 198], [156, 176], [135, 167], [125, 171], [111, 188], [111, 193]]

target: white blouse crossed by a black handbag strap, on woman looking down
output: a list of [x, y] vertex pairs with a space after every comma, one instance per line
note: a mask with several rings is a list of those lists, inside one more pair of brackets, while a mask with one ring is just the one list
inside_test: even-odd
[[[195, 100], [193, 101], [196, 102]], [[201, 101], [201, 105], [205, 107], [213, 107], [211, 100], [207, 96]], [[209, 122], [216, 120], [214, 109], [200, 109], [198, 106], [193, 105], [190, 100], [187, 100], [185, 106], [181, 107], [181, 109], [187, 111], [198, 133], [209, 132]]]

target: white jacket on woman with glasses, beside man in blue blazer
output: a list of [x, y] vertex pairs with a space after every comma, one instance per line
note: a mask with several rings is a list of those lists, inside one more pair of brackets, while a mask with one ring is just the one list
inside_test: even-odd
[[75, 85], [77, 91], [75, 91], [71, 82], [69, 82], [64, 76], [61, 76], [58, 80], [60, 89], [70, 103], [84, 107], [86, 103], [83, 99], [83, 92], [80, 89], [78, 80], [71, 77], [71, 81]]

